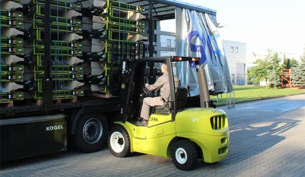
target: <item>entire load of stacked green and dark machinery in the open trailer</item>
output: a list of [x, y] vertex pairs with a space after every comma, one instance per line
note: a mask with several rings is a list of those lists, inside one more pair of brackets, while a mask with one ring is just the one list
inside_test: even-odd
[[1, 107], [41, 105], [46, 68], [53, 104], [117, 96], [123, 60], [144, 56], [144, 9], [113, 0], [49, 2], [46, 40], [45, 0], [1, 0]]

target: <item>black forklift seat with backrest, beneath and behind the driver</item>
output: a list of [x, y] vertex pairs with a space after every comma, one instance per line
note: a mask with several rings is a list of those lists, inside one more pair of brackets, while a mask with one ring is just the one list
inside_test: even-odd
[[[183, 87], [178, 87], [176, 89], [176, 105], [177, 110], [181, 110], [185, 107], [185, 102], [187, 98], [187, 89]], [[164, 106], [154, 106], [154, 113], [158, 114], [171, 114], [171, 103], [166, 102]]]

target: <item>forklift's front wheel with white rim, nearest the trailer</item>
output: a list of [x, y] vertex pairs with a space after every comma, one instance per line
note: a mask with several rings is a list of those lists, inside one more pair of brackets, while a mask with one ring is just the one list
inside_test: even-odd
[[115, 125], [108, 134], [108, 147], [116, 157], [126, 157], [130, 154], [130, 138], [122, 125]]

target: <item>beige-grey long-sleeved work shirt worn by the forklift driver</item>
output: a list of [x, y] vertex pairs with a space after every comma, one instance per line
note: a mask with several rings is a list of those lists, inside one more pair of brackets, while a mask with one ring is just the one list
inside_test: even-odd
[[[178, 87], [178, 78], [174, 76], [175, 89]], [[160, 96], [167, 102], [170, 99], [171, 89], [169, 87], [169, 76], [168, 72], [160, 76], [153, 85], [147, 87], [148, 90], [154, 91], [160, 89]]]

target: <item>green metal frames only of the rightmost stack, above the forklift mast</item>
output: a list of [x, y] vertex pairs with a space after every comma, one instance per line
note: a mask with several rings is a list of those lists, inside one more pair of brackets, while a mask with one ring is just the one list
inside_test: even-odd
[[142, 15], [143, 12], [143, 8], [137, 5], [107, 0], [103, 14], [107, 14], [105, 20], [108, 40], [105, 41], [105, 51], [108, 62], [105, 63], [105, 75], [109, 78], [108, 86], [113, 84], [114, 79], [110, 77], [108, 71], [120, 70], [122, 59], [139, 59], [143, 55], [143, 44], [138, 40], [130, 40], [133, 35], [141, 35], [145, 32], [145, 24], [141, 23], [141, 20], [145, 18]]

